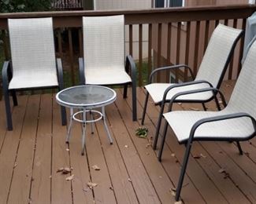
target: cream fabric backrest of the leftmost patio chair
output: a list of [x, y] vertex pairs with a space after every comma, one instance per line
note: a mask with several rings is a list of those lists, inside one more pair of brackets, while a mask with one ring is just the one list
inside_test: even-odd
[[9, 19], [8, 27], [13, 76], [42, 70], [56, 73], [52, 18]]

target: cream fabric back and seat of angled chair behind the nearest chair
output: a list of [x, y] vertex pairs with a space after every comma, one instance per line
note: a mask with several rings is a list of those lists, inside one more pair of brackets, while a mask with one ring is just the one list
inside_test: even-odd
[[[195, 77], [195, 81], [206, 80], [210, 82], [213, 87], [217, 87], [220, 82], [222, 72], [224, 70], [225, 63], [228, 59], [228, 55], [236, 41], [236, 38], [240, 35], [241, 30], [233, 27], [224, 26], [218, 24], [213, 31], [213, 34], [208, 43], [206, 53], [202, 58], [202, 63], [198, 68], [198, 74]], [[145, 86], [147, 92], [150, 94], [155, 104], [161, 102], [165, 93], [165, 89], [173, 84], [170, 83], [151, 83]], [[192, 89], [202, 89], [209, 87], [206, 84], [198, 84], [191, 86], [184, 86], [182, 88], [175, 88], [167, 94], [166, 99], [170, 100], [176, 93], [180, 91], [187, 91]], [[213, 93], [193, 93], [187, 96], [178, 98], [179, 100], [208, 100], [213, 97]]]

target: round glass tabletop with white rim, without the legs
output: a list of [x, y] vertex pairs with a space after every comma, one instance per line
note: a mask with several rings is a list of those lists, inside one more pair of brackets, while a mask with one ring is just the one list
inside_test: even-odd
[[117, 93], [105, 86], [72, 86], [56, 95], [58, 104], [65, 107], [102, 107], [116, 100]]

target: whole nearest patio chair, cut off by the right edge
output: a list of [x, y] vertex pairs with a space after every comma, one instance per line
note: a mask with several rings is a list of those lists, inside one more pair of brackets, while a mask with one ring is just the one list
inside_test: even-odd
[[[222, 111], [171, 111], [164, 114], [165, 120], [173, 129], [179, 143], [185, 144], [187, 147], [180, 172], [179, 184], [176, 189], [176, 200], [180, 197], [191, 146], [195, 140], [236, 141], [239, 153], [243, 155], [239, 141], [250, 140], [255, 136], [255, 56], [256, 42], [250, 47], [227, 106], [222, 93], [213, 87], [176, 93], [170, 100], [170, 106], [172, 107], [177, 97], [187, 96], [187, 94], [191, 93], [212, 91], [221, 93], [225, 106]], [[167, 122], [165, 122], [163, 137], [165, 137], [167, 132]], [[158, 158], [161, 160], [161, 154]]]

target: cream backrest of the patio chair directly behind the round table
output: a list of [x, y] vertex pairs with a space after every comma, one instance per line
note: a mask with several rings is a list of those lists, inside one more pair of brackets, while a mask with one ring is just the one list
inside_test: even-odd
[[124, 16], [83, 17], [83, 59], [91, 68], [124, 68]]

